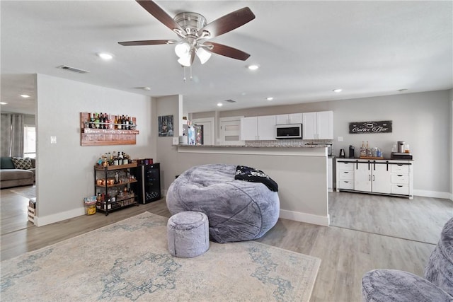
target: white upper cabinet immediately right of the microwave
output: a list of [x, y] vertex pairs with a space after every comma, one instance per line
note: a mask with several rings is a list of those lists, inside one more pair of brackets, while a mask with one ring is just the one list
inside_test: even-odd
[[333, 111], [302, 113], [302, 139], [333, 139]]

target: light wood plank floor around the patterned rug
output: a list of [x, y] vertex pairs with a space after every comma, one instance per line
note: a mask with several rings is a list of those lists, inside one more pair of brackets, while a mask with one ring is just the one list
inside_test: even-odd
[[[1, 260], [144, 211], [170, 216], [165, 200], [161, 199], [115, 211], [109, 216], [101, 213], [79, 216], [38, 228], [26, 222], [28, 199], [9, 190], [1, 190], [0, 197]], [[437, 243], [440, 229], [453, 215], [452, 205], [445, 199], [415, 197], [414, 201], [410, 201], [333, 192], [329, 193], [331, 227], [279, 219], [276, 226], [258, 241], [321, 258], [311, 301], [361, 301], [362, 274], [371, 269], [402, 269], [423, 275], [428, 257], [435, 248], [433, 243]], [[398, 207], [402, 207], [401, 211], [407, 215], [401, 216], [401, 211], [392, 210]], [[424, 212], [428, 213], [420, 214]], [[406, 227], [407, 224], [410, 227]], [[427, 226], [430, 231], [425, 232]], [[389, 233], [394, 230], [397, 232]], [[413, 238], [414, 235], [420, 236]]]

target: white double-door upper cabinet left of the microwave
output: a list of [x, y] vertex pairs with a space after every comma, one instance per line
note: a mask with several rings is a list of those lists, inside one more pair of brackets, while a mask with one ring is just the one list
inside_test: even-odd
[[241, 118], [241, 140], [275, 140], [275, 115]]

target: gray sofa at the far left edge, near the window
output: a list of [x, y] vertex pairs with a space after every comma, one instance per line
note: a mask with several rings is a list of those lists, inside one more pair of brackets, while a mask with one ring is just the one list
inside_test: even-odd
[[32, 168], [19, 168], [13, 163], [13, 158], [2, 156], [0, 158], [0, 189], [6, 187], [19, 187], [33, 185], [35, 182], [35, 158], [30, 158]]

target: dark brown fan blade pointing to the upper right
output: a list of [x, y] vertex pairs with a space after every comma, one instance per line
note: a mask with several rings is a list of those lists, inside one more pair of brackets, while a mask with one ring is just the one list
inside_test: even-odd
[[231, 30], [239, 28], [255, 18], [255, 15], [252, 13], [251, 9], [248, 7], [244, 7], [238, 9], [237, 11], [233, 11], [232, 13], [228, 13], [223, 17], [218, 18], [217, 20], [212, 21], [211, 23], [207, 24], [204, 28], [201, 28], [197, 32], [197, 36], [201, 37], [203, 31], [208, 31], [210, 33], [210, 37], [217, 37], [219, 35], [223, 35], [224, 33], [228, 33]]

